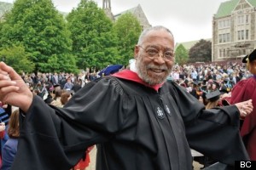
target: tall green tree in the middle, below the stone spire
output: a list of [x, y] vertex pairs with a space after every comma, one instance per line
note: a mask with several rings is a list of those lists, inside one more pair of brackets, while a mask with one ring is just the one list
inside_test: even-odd
[[119, 53], [113, 22], [95, 2], [81, 0], [78, 8], [67, 15], [67, 23], [79, 68], [102, 69], [116, 64]]

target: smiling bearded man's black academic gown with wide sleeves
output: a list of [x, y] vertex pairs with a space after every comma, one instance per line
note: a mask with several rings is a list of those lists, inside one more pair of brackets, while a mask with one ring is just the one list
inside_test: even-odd
[[68, 170], [97, 144], [96, 170], [189, 170], [191, 148], [248, 160], [236, 106], [204, 110], [175, 83], [155, 91], [116, 77], [90, 82], [64, 108], [37, 96], [22, 123], [13, 170]]

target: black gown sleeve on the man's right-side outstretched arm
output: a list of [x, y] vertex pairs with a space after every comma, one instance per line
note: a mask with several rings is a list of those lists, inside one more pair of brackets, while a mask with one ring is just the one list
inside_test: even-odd
[[190, 148], [231, 166], [249, 160], [239, 131], [240, 115], [235, 105], [206, 110], [192, 95], [174, 85]]

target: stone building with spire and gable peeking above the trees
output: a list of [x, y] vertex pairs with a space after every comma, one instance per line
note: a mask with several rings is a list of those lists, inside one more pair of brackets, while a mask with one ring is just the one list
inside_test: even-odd
[[137, 20], [140, 22], [143, 30], [148, 27], [151, 27], [146, 15], [143, 12], [143, 8], [141, 7], [140, 4], [138, 4], [137, 7], [127, 9], [124, 12], [121, 12], [119, 14], [113, 14], [111, 11], [111, 0], [102, 0], [102, 1], [103, 1], [102, 8], [104, 9], [105, 13], [111, 20], [113, 21], [117, 20], [121, 14], [131, 13], [131, 14], [134, 14]]

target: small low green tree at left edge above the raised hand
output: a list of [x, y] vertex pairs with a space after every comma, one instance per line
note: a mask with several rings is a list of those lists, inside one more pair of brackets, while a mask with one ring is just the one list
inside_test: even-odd
[[35, 65], [28, 59], [28, 54], [22, 46], [4, 48], [0, 51], [0, 56], [6, 64], [11, 65], [18, 73], [34, 70]]

